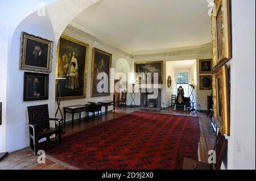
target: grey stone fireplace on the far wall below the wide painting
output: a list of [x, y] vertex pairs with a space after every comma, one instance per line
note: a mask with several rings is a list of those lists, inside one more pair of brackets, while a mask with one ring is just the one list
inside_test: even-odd
[[160, 109], [162, 103], [162, 89], [158, 90], [157, 98], [151, 98], [149, 95], [154, 94], [154, 89], [141, 89], [141, 107], [142, 108], [151, 108], [151, 109]]

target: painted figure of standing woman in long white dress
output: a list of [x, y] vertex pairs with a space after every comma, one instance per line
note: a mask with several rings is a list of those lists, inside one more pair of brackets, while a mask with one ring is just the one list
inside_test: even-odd
[[69, 64], [67, 66], [67, 83], [65, 87], [67, 89], [78, 89], [79, 86], [79, 65], [77, 64], [76, 52], [72, 51]]

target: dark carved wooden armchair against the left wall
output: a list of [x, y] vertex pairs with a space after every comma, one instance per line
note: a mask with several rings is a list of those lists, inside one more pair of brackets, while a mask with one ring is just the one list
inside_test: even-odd
[[[38, 154], [39, 145], [44, 147], [44, 150], [52, 148], [52, 146], [61, 143], [61, 122], [62, 119], [49, 118], [48, 105], [31, 106], [28, 110], [28, 125], [30, 133], [30, 148], [35, 155]], [[50, 121], [55, 121], [55, 128], [50, 128]], [[50, 140], [50, 137], [56, 134], [56, 140]], [[39, 141], [46, 138], [39, 144]]]

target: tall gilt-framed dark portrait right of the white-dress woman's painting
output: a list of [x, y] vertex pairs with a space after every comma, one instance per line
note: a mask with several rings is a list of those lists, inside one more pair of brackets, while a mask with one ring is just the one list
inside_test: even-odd
[[110, 95], [110, 68], [112, 54], [93, 48], [91, 96]]

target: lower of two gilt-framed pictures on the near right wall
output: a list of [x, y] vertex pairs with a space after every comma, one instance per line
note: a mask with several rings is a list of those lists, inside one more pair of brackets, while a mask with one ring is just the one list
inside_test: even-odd
[[228, 66], [223, 65], [213, 74], [213, 112], [220, 131], [230, 136], [230, 103]]

